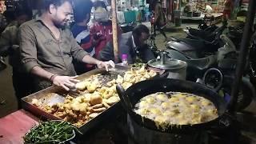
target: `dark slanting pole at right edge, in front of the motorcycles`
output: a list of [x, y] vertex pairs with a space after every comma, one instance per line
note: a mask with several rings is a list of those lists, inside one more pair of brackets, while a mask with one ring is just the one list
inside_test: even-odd
[[242, 42], [240, 46], [240, 54], [239, 59], [237, 63], [237, 69], [235, 71], [235, 79], [233, 82], [233, 89], [231, 91], [231, 100], [230, 105], [228, 106], [228, 110], [230, 110], [231, 113], [234, 113], [235, 106], [238, 101], [238, 92], [239, 92], [239, 86], [242, 80], [242, 74], [245, 70], [246, 66], [246, 59], [249, 51], [249, 44], [250, 44], [250, 38], [252, 35], [252, 27], [254, 24], [254, 15], [255, 15], [255, 9], [256, 8], [256, 1], [250, 0], [249, 2], [249, 8], [246, 15], [246, 26], [244, 27], [243, 34], [242, 34]]

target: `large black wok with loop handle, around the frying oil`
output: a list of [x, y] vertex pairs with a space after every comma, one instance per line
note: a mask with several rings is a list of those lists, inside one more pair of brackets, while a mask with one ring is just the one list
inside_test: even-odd
[[[202, 130], [210, 128], [214, 122], [218, 122], [222, 115], [226, 111], [226, 104], [224, 100], [218, 96], [213, 90], [210, 90], [206, 86], [202, 86], [195, 82], [187, 82], [178, 79], [159, 78], [152, 79], [143, 82], [138, 82], [133, 86], [130, 86], [127, 90], [124, 90], [122, 86], [117, 86], [118, 95], [121, 99], [122, 106], [125, 108], [130, 118], [137, 122], [141, 126], [145, 126], [151, 130], [158, 130], [166, 133], [186, 133], [194, 130]], [[149, 118], [142, 118], [141, 115], [134, 112], [134, 106], [139, 100], [148, 94], [154, 94], [156, 92], [186, 92], [191, 94], [198, 94], [204, 98], [209, 99], [214, 103], [214, 106], [218, 109], [218, 118], [201, 124], [194, 125], [182, 125], [182, 126], [167, 126], [166, 129], [157, 127], [155, 122]]]

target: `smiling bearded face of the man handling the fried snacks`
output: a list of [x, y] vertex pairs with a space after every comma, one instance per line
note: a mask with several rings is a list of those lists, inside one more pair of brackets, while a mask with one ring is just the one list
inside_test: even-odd
[[65, 24], [70, 21], [72, 12], [70, 2], [64, 2], [61, 6], [50, 6], [50, 13], [53, 16], [56, 26], [65, 26]]

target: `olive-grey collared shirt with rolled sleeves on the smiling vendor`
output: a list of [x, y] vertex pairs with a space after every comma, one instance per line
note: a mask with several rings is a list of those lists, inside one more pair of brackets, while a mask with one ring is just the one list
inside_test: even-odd
[[86, 51], [75, 41], [68, 29], [59, 29], [60, 38], [48, 29], [40, 18], [20, 26], [19, 40], [22, 64], [30, 72], [34, 66], [54, 74], [75, 75], [73, 58], [82, 62]]

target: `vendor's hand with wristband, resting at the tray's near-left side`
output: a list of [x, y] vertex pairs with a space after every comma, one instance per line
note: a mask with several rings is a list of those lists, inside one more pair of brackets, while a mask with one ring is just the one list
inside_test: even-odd
[[75, 78], [77, 78], [77, 76], [68, 77], [56, 75], [51, 80], [54, 83], [54, 85], [62, 86], [62, 88], [69, 91], [70, 89], [73, 89], [75, 87], [75, 83], [79, 82], [79, 80]]

